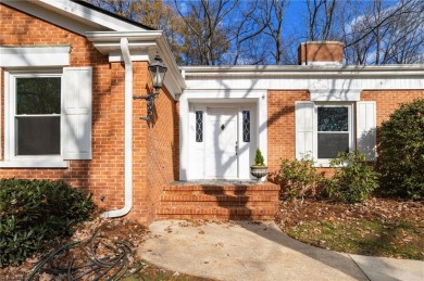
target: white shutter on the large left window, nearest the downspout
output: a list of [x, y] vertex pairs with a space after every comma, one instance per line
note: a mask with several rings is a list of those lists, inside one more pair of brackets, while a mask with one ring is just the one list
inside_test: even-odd
[[91, 158], [91, 67], [64, 67], [62, 76], [64, 159]]

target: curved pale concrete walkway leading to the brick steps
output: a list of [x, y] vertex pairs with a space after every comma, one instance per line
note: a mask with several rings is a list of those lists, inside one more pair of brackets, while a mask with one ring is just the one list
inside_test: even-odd
[[154, 221], [138, 250], [169, 270], [216, 280], [424, 280], [424, 261], [341, 254], [300, 243], [274, 222]]

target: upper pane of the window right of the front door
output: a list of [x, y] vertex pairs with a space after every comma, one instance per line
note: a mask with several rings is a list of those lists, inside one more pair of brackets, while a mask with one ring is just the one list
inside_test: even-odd
[[317, 107], [319, 131], [348, 131], [348, 107]]

